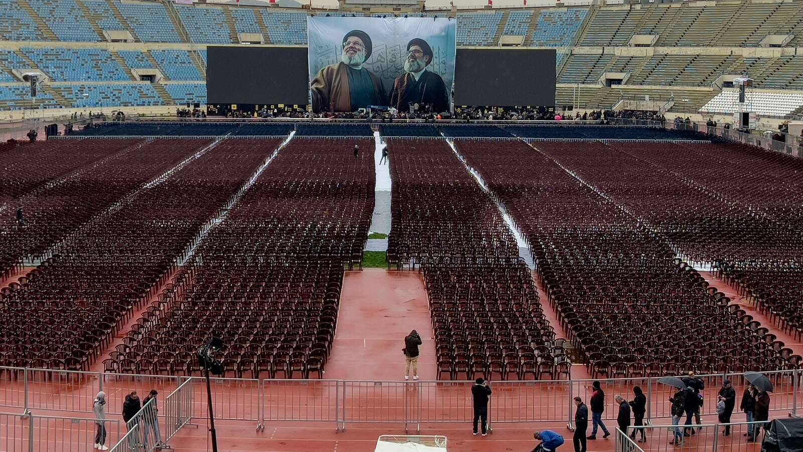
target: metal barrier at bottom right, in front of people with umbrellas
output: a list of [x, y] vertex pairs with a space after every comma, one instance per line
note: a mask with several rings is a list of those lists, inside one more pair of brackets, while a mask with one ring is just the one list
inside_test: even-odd
[[[635, 441], [630, 437], [633, 427], [623, 432], [616, 428], [617, 452], [671, 452], [674, 450], [728, 450], [728, 452], [753, 452], [760, 449], [764, 441], [764, 425], [766, 422], [731, 422], [728, 424], [694, 425], [691, 430], [684, 432], [683, 422], [675, 425], [646, 425], [646, 441], [639, 442], [641, 433], [635, 435]], [[728, 436], [724, 430], [728, 428]], [[748, 442], [748, 431], [754, 432], [754, 441]], [[684, 434], [685, 433], [685, 434]], [[675, 441], [680, 444], [674, 444]], [[756, 445], [759, 445], [756, 447]]]

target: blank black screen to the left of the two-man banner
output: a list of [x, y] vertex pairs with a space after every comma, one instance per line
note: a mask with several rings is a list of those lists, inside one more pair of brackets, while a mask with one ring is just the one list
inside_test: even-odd
[[207, 47], [207, 104], [308, 104], [306, 47]]

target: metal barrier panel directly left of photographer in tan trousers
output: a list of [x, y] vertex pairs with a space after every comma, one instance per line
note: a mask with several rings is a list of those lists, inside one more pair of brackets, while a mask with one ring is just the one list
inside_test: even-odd
[[357, 422], [399, 423], [406, 428], [408, 422], [418, 421], [408, 405], [418, 397], [416, 385], [406, 381], [344, 381], [340, 399], [343, 429]]

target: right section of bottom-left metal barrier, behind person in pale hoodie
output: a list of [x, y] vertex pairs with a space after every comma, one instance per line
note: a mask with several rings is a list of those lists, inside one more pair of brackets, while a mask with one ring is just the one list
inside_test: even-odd
[[[120, 421], [116, 419], [81, 419], [77, 417], [31, 417], [33, 447], [31, 452], [92, 452], [98, 433], [97, 422], [106, 427], [104, 446], [120, 441]], [[16, 450], [16, 449], [7, 449]]]

